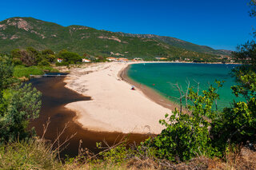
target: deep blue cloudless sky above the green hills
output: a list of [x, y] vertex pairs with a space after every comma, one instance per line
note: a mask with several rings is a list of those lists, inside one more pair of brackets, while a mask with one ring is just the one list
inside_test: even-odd
[[250, 0], [0, 0], [0, 21], [32, 17], [62, 26], [157, 34], [235, 50], [252, 38]]

